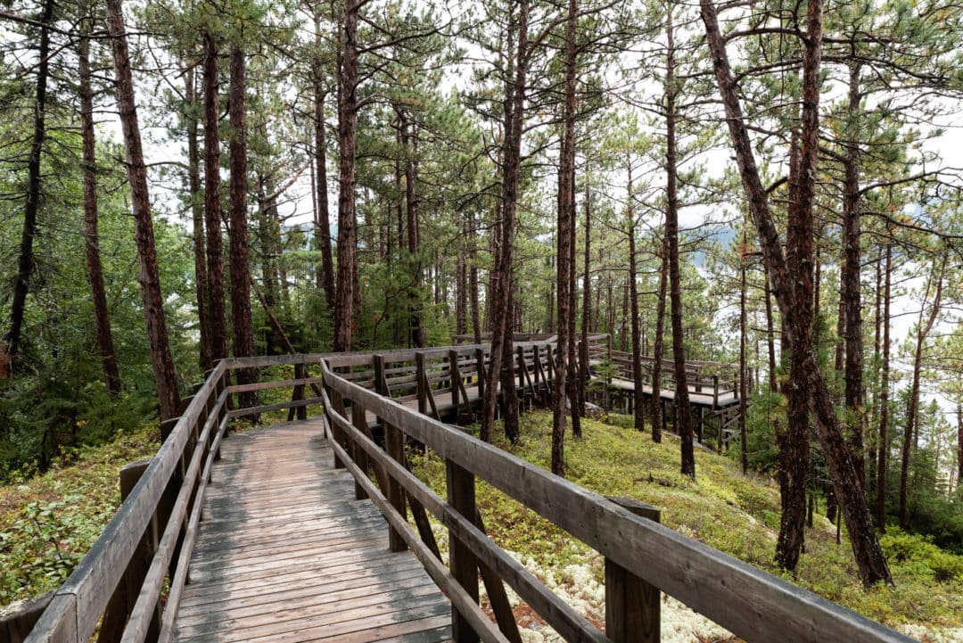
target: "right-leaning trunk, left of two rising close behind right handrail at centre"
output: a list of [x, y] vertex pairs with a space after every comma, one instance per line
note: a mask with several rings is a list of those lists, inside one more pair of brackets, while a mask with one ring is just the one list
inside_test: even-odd
[[[481, 415], [481, 439], [491, 441], [492, 425], [495, 423], [495, 405], [498, 397], [496, 384], [501, 379], [505, 347], [510, 354], [511, 309], [506, 303], [511, 295], [511, 263], [515, 233], [515, 211], [518, 205], [518, 180], [521, 167], [522, 125], [525, 111], [525, 84], [528, 71], [529, 2], [521, 0], [518, 13], [518, 48], [515, 57], [514, 83], [506, 82], [506, 129], [503, 154], [501, 244], [497, 251], [498, 261], [492, 267], [492, 297], [488, 305], [492, 309], [491, 366], [485, 387], [485, 399]], [[510, 368], [510, 367], [509, 367]], [[559, 372], [556, 372], [556, 377]], [[563, 389], [564, 390], [564, 389]], [[507, 432], [514, 432], [507, 427]]]

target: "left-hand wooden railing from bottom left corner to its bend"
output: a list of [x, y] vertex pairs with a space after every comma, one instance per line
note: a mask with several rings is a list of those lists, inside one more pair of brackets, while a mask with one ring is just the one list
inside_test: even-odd
[[149, 464], [125, 469], [124, 502], [54, 593], [29, 643], [86, 642], [98, 625], [98, 643], [171, 640], [199, 501], [229, 420], [226, 389], [221, 362], [186, 400], [184, 414], [162, 426], [166, 439]]

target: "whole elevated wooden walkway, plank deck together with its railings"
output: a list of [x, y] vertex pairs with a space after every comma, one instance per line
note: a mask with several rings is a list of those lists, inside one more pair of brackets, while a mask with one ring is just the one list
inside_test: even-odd
[[[544, 399], [552, 342], [517, 348], [523, 399]], [[580, 643], [657, 643], [662, 592], [748, 643], [912, 643], [662, 526], [654, 507], [445, 424], [471, 415], [489, 368], [484, 346], [222, 360], [149, 463], [121, 472], [124, 502], [26, 643], [522, 643], [509, 587]], [[251, 369], [262, 381], [231, 383]], [[287, 423], [227, 433], [282, 410]], [[443, 492], [411, 474], [409, 448], [444, 463]], [[485, 535], [479, 480], [604, 558], [604, 628]]]

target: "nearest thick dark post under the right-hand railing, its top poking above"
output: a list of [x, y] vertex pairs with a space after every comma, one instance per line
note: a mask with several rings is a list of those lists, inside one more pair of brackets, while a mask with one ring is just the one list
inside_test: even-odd
[[[610, 498], [637, 516], [658, 523], [658, 508], [643, 502]], [[605, 633], [612, 643], [658, 643], [662, 616], [659, 588], [605, 559]]]

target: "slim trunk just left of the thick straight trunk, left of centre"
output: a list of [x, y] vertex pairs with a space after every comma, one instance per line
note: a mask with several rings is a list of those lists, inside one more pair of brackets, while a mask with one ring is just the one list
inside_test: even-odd
[[[314, 19], [315, 46], [321, 51], [324, 40], [321, 35], [321, 13], [315, 14]], [[331, 257], [331, 217], [327, 203], [327, 143], [325, 131], [325, 97], [327, 92], [324, 85], [324, 63], [321, 56], [313, 61], [314, 74], [314, 162], [317, 175], [316, 212], [318, 214], [314, 224], [315, 247], [321, 250], [321, 273], [316, 279], [317, 285], [325, 289], [327, 309], [333, 313], [335, 306], [334, 293], [334, 260]]]

